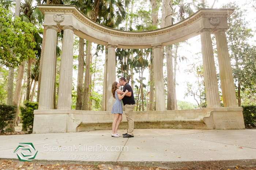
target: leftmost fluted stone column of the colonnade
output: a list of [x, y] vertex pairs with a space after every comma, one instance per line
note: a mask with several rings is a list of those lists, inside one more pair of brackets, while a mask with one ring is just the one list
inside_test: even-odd
[[38, 109], [52, 109], [56, 69], [57, 27], [47, 25]]

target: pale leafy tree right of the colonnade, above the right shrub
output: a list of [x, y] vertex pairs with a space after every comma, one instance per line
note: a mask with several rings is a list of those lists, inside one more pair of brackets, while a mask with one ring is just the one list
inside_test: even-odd
[[231, 66], [236, 86], [238, 106], [256, 102], [256, 46], [250, 42], [253, 37], [252, 29], [245, 20], [246, 10], [242, 10], [236, 3], [229, 3], [223, 8], [234, 8], [234, 12], [227, 18], [227, 42], [230, 52]]

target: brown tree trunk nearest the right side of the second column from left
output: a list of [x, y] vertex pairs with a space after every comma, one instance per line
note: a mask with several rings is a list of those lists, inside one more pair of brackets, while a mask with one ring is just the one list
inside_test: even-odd
[[84, 71], [84, 39], [79, 37], [76, 110], [82, 110], [82, 103], [83, 103], [83, 71]]

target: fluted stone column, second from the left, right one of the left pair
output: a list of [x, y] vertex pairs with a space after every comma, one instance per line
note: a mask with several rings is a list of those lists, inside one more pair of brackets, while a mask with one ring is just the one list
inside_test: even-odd
[[71, 109], [75, 28], [71, 26], [64, 26], [62, 29], [64, 30], [64, 33], [60, 63], [58, 109]]

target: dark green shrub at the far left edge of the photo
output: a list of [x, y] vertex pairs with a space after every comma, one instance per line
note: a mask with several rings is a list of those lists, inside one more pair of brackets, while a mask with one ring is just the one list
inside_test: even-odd
[[7, 132], [6, 126], [15, 118], [16, 106], [0, 104], [0, 133]]

